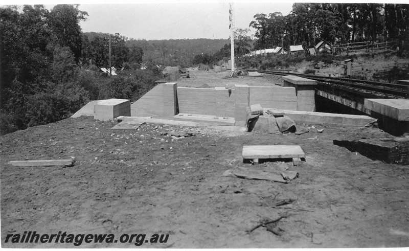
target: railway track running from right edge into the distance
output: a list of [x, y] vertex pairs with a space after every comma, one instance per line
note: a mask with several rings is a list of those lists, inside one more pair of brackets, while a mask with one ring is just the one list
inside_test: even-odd
[[260, 70], [247, 70], [247, 71], [281, 75], [281, 76], [295, 75], [299, 77], [316, 80], [318, 82], [337, 84], [341, 86], [349, 86], [349, 87], [363, 89], [363, 90], [370, 90], [370, 91], [378, 92], [382, 94], [394, 95], [394, 96], [397, 96], [397, 98], [409, 98], [409, 85], [404, 85], [404, 84], [391, 84], [391, 83], [367, 81], [367, 80], [360, 80], [360, 79], [316, 76], [316, 75], [301, 74], [301, 73], [289, 73], [289, 72], [283, 72], [283, 71], [260, 71]]

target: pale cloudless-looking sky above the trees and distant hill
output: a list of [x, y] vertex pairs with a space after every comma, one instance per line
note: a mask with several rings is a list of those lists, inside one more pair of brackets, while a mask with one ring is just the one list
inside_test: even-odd
[[[20, 1], [20, 0], [18, 0]], [[7, 0], [9, 4], [43, 4], [47, 9], [67, 1]], [[77, 1], [79, 9], [86, 11], [81, 21], [82, 31], [120, 33], [135, 39], [222, 38], [228, 39], [229, 1]], [[105, 2], [106, 3], [106, 2]], [[254, 0], [236, 0], [233, 4], [236, 28], [249, 28], [257, 13], [281, 12], [287, 15], [292, 3]], [[251, 32], [254, 34], [254, 30]]]

